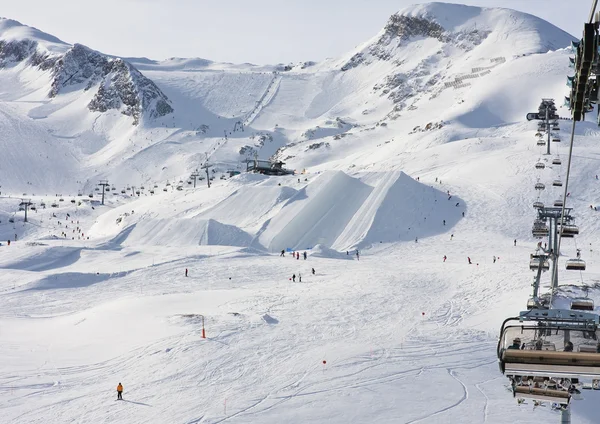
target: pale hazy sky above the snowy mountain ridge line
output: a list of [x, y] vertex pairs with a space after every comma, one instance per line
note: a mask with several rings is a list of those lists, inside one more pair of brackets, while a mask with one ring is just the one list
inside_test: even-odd
[[[537, 15], [579, 38], [589, 0], [462, 0]], [[288, 63], [345, 53], [420, 0], [3, 0], [0, 13], [118, 56]]]

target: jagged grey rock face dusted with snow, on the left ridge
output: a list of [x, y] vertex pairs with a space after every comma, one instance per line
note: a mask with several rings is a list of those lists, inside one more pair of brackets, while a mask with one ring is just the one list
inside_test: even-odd
[[173, 112], [167, 96], [133, 65], [81, 44], [75, 44], [64, 54], [53, 55], [38, 48], [34, 40], [0, 40], [0, 67], [23, 61], [44, 71], [51, 70], [53, 79], [48, 93], [51, 98], [69, 86], [83, 85], [84, 90], [97, 87], [88, 109], [120, 110], [133, 118], [134, 125], [144, 114], [153, 119]]

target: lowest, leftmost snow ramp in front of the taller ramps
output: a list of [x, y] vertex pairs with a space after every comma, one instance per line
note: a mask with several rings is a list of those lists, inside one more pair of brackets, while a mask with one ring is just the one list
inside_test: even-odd
[[[122, 236], [123, 235], [123, 236]], [[127, 227], [113, 241], [122, 246], [220, 245], [247, 247], [250, 234], [214, 219], [147, 219]]]

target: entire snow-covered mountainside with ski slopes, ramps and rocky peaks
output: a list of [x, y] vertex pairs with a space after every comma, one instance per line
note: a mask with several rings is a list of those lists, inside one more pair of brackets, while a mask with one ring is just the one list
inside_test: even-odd
[[[0, 20], [1, 416], [558, 420], [517, 406], [495, 348], [531, 290], [532, 204], [561, 194], [566, 143], [544, 156], [525, 114], [560, 103], [571, 39], [430, 3], [340, 58], [256, 66], [115, 58]], [[577, 127], [581, 235], [562, 248], [588, 271], [561, 268], [561, 302], [582, 283], [600, 301], [596, 128]], [[230, 177], [255, 155], [297, 173]], [[574, 420], [593, 423], [584, 395]]]

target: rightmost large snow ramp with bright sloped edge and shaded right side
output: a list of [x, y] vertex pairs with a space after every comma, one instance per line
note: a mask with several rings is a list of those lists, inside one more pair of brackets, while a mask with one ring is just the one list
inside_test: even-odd
[[456, 224], [464, 206], [462, 199], [448, 199], [446, 193], [403, 172], [382, 173], [369, 198], [331, 247], [345, 251], [439, 234]]

